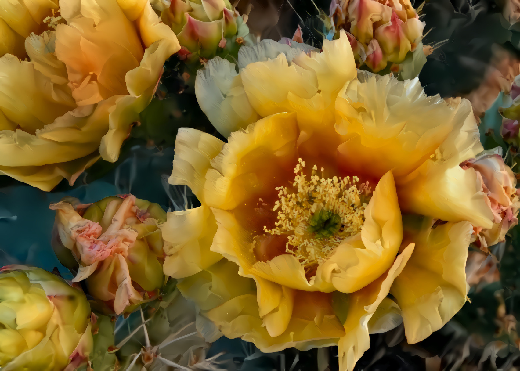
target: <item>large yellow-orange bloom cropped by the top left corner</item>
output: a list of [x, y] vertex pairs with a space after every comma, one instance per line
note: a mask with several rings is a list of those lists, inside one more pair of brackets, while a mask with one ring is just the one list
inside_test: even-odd
[[[16, 56], [0, 58], [0, 174], [45, 191], [63, 178], [73, 183], [99, 157], [117, 160], [164, 61], [179, 49], [148, 1], [54, 5], [0, 0], [0, 21], [28, 36], [29, 57], [20, 60], [23, 53], [9, 46], [4, 51]], [[39, 34], [33, 23], [41, 25], [47, 14], [56, 31]]]

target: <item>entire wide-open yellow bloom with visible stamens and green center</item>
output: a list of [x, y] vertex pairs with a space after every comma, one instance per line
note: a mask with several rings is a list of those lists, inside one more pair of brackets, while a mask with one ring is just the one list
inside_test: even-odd
[[402, 319], [414, 343], [443, 326], [467, 299], [473, 228], [493, 226], [460, 166], [483, 150], [470, 103], [357, 72], [344, 32], [321, 53], [242, 47], [238, 67], [217, 58], [197, 77], [231, 134], [179, 130], [170, 182], [202, 205], [162, 226], [164, 272], [201, 332], [265, 352], [338, 345], [351, 370], [370, 333]]

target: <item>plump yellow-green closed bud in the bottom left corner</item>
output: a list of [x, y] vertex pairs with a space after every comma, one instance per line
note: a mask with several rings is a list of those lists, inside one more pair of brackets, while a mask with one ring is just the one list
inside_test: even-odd
[[40, 268], [0, 270], [0, 368], [75, 370], [92, 350], [90, 306], [79, 289]]

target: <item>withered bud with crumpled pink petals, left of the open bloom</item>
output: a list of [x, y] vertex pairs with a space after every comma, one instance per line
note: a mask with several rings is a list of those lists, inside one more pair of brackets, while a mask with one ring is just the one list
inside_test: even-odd
[[100, 310], [132, 312], [159, 295], [165, 281], [161, 206], [124, 195], [94, 204], [68, 198], [50, 208], [56, 210], [56, 255], [77, 271], [73, 282], [86, 280], [88, 293], [103, 304]]

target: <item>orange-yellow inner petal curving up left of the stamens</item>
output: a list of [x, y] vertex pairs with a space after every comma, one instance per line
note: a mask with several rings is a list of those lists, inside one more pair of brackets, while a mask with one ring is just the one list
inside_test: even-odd
[[232, 209], [262, 192], [274, 192], [280, 180], [266, 175], [287, 174], [297, 158], [295, 118], [279, 113], [234, 132], [206, 173], [206, 204]]

